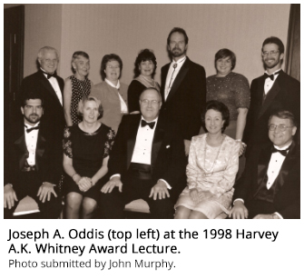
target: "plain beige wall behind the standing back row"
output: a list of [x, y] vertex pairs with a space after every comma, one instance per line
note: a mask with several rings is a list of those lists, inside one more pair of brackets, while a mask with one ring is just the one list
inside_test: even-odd
[[129, 84], [133, 63], [142, 48], [157, 58], [155, 79], [169, 62], [166, 38], [172, 27], [189, 35], [188, 55], [215, 73], [213, 59], [223, 47], [237, 55], [235, 72], [251, 81], [263, 71], [260, 47], [276, 35], [287, 42], [290, 5], [25, 5], [25, 75], [34, 72], [37, 50], [52, 45], [61, 54], [58, 72], [71, 75], [71, 56], [83, 50], [91, 57], [90, 79], [99, 75], [103, 55], [123, 59], [122, 81]]

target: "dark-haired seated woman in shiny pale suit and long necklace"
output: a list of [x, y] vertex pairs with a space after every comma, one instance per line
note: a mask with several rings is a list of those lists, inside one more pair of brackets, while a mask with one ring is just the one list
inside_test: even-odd
[[188, 186], [175, 204], [175, 219], [214, 219], [223, 212], [229, 214], [240, 149], [240, 144], [222, 134], [229, 120], [226, 105], [207, 102], [202, 115], [207, 133], [192, 137]]

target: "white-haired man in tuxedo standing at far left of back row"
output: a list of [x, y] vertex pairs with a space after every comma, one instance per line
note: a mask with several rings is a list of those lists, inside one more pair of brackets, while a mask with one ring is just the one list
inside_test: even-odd
[[59, 63], [57, 50], [44, 46], [38, 52], [37, 60], [40, 68], [33, 75], [24, 78], [21, 93], [36, 92], [44, 99], [44, 121], [49, 126], [55, 126], [54, 133], [59, 141], [64, 135], [63, 92], [64, 80], [56, 74]]

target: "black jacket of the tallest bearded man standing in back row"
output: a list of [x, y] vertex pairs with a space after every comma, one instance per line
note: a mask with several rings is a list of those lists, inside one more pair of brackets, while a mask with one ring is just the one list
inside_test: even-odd
[[182, 138], [191, 140], [193, 135], [199, 135], [201, 129], [201, 113], [206, 105], [206, 73], [201, 65], [191, 62], [187, 57], [164, 101], [170, 65], [162, 67], [161, 114], [177, 121], [181, 125]]

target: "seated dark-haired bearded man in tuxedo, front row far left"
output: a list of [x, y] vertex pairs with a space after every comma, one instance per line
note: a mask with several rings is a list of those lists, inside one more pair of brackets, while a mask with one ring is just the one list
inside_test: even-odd
[[54, 129], [44, 125], [41, 95], [24, 95], [24, 119], [5, 133], [5, 218], [11, 218], [19, 201], [34, 198], [42, 218], [57, 218], [61, 199], [56, 184], [61, 175], [63, 153], [54, 140]]

